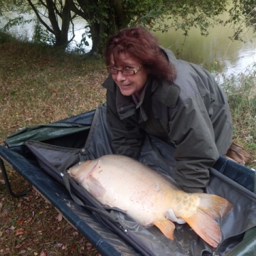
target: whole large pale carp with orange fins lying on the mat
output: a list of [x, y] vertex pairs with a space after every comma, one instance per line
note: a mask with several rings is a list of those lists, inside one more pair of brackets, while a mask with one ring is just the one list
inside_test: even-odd
[[105, 155], [68, 169], [102, 205], [117, 207], [144, 227], [156, 225], [174, 240], [174, 220], [188, 223], [209, 245], [217, 247], [221, 231], [215, 218], [224, 218], [233, 206], [207, 193], [186, 193], [164, 175], [137, 160]]

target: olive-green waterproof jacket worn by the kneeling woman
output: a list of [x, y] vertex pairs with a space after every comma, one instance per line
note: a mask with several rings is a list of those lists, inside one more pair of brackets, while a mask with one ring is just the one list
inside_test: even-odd
[[163, 137], [176, 147], [176, 181], [188, 192], [201, 192], [209, 181], [208, 169], [228, 150], [232, 120], [225, 93], [213, 76], [198, 65], [176, 60], [174, 83], [151, 75], [139, 102], [124, 96], [110, 75], [107, 88], [107, 123], [117, 154], [137, 158], [146, 133]]

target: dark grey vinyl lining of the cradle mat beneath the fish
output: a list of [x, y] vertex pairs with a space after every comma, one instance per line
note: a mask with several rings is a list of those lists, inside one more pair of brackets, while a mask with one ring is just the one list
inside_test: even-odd
[[[67, 177], [65, 171], [70, 166], [77, 164], [78, 161], [112, 154], [112, 135], [107, 127], [105, 112], [105, 106], [98, 107], [95, 114], [93, 113], [93, 119], [92, 114], [90, 114], [91, 124], [89, 124], [90, 121], [87, 124], [90, 129], [85, 125], [84, 127], [87, 129], [79, 132], [80, 136], [74, 135], [72, 132], [70, 137], [68, 132], [68, 136], [73, 139], [66, 139], [66, 143], [63, 142], [64, 137], [56, 139], [53, 136], [49, 138], [45, 134], [43, 139], [37, 137], [43, 142], [28, 140], [25, 142], [26, 148], [24, 149], [22, 139], [15, 139], [17, 134], [14, 134], [14, 136], [6, 139], [6, 144], [11, 146], [12, 143], [16, 147], [16, 151], [22, 151], [23, 154], [27, 154], [32, 159], [33, 156], [36, 156], [43, 171], [46, 171], [56, 181], [66, 183], [63, 176]], [[68, 123], [68, 119], [64, 120], [65, 122]], [[36, 134], [38, 133], [36, 132]], [[18, 134], [18, 137], [22, 137], [21, 133]], [[31, 139], [31, 137], [28, 135], [26, 139]], [[75, 147], [69, 147], [69, 140]], [[15, 144], [14, 142], [17, 141], [18, 144]], [[21, 149], [21, 147], [23, 148]], [[171, 157], [174, 150], [170, 144], [150, 136], [147, 137], [142, 146], [139, 161], [171, 178], [175, 171], [174, 159]], [[33, 156], [31, 156], [31, 152]], [[139, 255], [255, 255], [256, 195], [252, 193], [255, 185], [255, 172], [247, 168], [241, 169], [240, 166], [231, 163], [228, 159], [220, 160], [218, 171], [213, 168], [210, 169], [210, 183], [206, 192], [226, 198], [230, 203], [233, 203], [234, 208], [226, 218], [218, 220], [223, 233], [223, 240], [215, 249], [199, 238], [187, 224], [176, 224], [175, 239], [169, 240], [155, 227], [144, 228], [122, 211], [102, 207], [95, 198], [71, 178], [68, 178], [68, 186], [70, 186], [70, 193], [75, 201], [81, 205], [87, 205], [85, 210], [90, 210], [99, 222], [104, 223], [107, 228], [128, 242]], [[223, 168], [223, 166], [228, 166], [228, 168]], [[238, 169], [236, 174], [233, 174], [232, 166], [235, 166], [234, 169]], [[224, 174], [228, 174], [231, 178]]]

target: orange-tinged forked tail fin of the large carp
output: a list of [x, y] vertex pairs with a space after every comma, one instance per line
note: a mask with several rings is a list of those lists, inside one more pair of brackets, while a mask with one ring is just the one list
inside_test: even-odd
[[224, 218], [233, 206], [220, 196], [206, 193], [198, 193], [197, 196], [200, 199], [200, 204], [196, 213], [182, 218], [209, 245], [217, 247], [222, 235], [215, 218]]

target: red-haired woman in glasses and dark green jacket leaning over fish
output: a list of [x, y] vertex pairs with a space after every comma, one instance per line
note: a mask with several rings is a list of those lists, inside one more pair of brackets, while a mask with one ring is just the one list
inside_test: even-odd
[[203, 192], [208, 169], [231, 144], [226, 96], [207, 70], [176, 60], [145, 28], [109, 38], [105, 62], [107, 123], [117, 154], [137, 158], [146, 133], [174, 144], [176, 181]]

